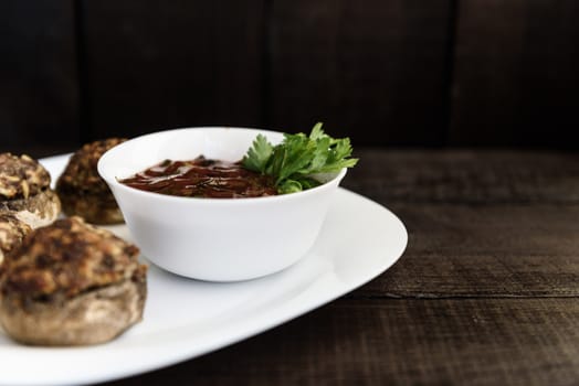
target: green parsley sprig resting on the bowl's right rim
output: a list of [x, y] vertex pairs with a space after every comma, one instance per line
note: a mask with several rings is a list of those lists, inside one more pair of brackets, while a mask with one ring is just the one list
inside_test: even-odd
[[349, 138], [331, 138], [318, 122], [309, 136], [286, 133], [276, 146], [257, 135], [241, 162], [245, 169], [274, 178], [278, 193], [285, 194], [319, 185], [315, 174], [354, 167], [358, 159], [350, 158], [351, 150]]

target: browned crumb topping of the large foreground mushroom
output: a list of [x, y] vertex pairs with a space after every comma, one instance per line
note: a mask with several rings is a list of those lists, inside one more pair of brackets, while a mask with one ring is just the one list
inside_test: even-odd
[[141, 280], [138, 248], [81, 217], [55, 221], [30, 233], [4, 260], [0, 290], [28, 299], [74, 297], [122, 280]]

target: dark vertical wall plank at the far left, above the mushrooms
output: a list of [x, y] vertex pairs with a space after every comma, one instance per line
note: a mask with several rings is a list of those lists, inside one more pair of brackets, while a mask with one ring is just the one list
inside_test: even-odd
[[0, 3], [0, 152], [77, 143], [72, 1]]

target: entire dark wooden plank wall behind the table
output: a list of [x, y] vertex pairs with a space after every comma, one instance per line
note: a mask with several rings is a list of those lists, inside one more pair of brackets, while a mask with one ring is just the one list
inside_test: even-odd
[[3, 0], [0, 151], [318, 120], [355, 146], [577, 150], [577, 0]]

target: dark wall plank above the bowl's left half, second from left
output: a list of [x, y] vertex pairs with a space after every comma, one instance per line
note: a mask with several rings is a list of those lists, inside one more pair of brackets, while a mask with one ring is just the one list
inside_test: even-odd
[[263, 0], [84, 1], [91, 137], [259, 126]]

